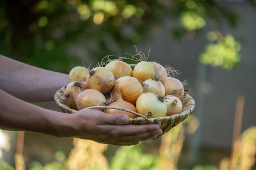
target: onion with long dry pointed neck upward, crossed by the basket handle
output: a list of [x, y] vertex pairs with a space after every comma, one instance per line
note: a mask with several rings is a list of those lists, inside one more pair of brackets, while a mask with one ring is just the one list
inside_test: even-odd
[[[119, 91], [119, 88], [118, 88], [117, 84], [115, 84], [114, 87], [113, 87], [113, 94], [111, 96], [110, 103], [108, 104], [108, 106], [117, 107], [117, 108], [124, 108], [124, 109], [128, 109], [128, 110], [137, 112], [136, 107], [133, 104], [131, 104], [129, 102], [126, 102], [123, 99], [122, 94]], [[120, 113], [120, 114], [128, 115], [130, 118], [137, 117], [137, 115], [135, 115], [133, 113], [126, 112], [126, 111], [123, 111], [123, 110], [117, 110], [117, 109], [113, 109], [113, 108], [106, 108], [105, 113], [107, 113], [107, 114]]]

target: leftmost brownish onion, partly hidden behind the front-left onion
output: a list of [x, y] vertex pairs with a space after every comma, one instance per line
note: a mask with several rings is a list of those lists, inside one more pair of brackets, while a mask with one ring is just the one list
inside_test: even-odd
[[72, 94], [78, 94], [81, 93], [81, 91], [84, 91], [87, 89], [88, 86], [85, 82], [82, 81], [73, 81], [69, 83], [63, 93], [62, 99], [65, 101], [65, 104], [69, 106], [72, 109], [77, 110], [76, 104], [74, 102], [74, 99], [71, 97]]

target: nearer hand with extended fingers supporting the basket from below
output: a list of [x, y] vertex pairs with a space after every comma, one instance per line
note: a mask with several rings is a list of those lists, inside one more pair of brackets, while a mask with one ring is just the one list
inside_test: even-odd
[[69, 114], [69, 119], [74, 130], [66, 135], [104, 144], [135, 145], [162, 133], [157, 124], [128, 125], [127, 115], [108, 115], [96, 109], [79, 110]]

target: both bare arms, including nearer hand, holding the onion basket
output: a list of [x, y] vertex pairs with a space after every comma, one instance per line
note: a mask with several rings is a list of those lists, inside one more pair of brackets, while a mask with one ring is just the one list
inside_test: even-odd
[[68, 82], [66, 74], [0, 55], [0, 128], [113, 145], [134, 145], [162, 133], [157, 124], [127, 125], [126, 115], [93, 109], [65, 114], [31, 104], [53, 101], [54, 93]]

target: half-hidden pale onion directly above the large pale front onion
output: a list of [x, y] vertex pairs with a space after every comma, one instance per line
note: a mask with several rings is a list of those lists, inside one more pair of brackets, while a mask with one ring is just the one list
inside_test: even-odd
[[157, 78], [147, 79], [143, 82], [145, 92], [151, 92], [157, 95], [165, 95], [165, 88], [162, 82]]

